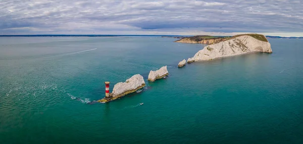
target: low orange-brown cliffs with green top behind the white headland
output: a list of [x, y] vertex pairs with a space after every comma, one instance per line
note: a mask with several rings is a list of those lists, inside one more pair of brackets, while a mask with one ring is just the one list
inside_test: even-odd
[[201, 43], [201, 44], [213, 44], [215, 42], [223, 41], [228, 37], [218, 37], [218, 36], [192, 36], [192, 37], [184, 37], [175, 42], [181, 43]]

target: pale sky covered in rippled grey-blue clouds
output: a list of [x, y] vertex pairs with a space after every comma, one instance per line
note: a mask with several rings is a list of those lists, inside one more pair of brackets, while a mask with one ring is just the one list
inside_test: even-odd
[[0, 35], [303, 36], [303, 0], [0, 0]]

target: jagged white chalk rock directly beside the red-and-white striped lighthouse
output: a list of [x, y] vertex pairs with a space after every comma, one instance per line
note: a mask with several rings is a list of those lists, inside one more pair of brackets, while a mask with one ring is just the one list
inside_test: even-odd
[[98, 100], [98, 102], [106, 103], [127, 94], [133, 93], [145, 86], [144, 79], [141, 75], [137, 74], [127, 79], [124, 83], [120, 82], [114, 86], [113, 92], [110, 94], [109, 99]]

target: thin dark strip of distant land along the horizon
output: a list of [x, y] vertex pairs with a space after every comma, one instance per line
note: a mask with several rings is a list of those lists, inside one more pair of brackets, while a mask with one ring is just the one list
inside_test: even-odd
[[[0, 37], [119, 37], [119, 36], [163, 36], [163, 37], [191, 37], [194, 35], [0, 35]], [[216, 37], [231, 37], [231, 36], [216, 36]], [[266, 36], [267, 38], [282, 38], [282, 39], [303, 39], [303, 37], [281, 37], [281, 36]]]

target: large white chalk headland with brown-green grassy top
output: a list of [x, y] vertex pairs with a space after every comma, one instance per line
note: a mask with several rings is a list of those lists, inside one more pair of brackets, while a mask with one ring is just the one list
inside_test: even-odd
[[212, 60], [214, 58], [239, 55], [249, 52], [272, 53], [271, 45], [264, 35], [236, 35], [219, 43], [211, 44], [199, 50], [194, 61]]

